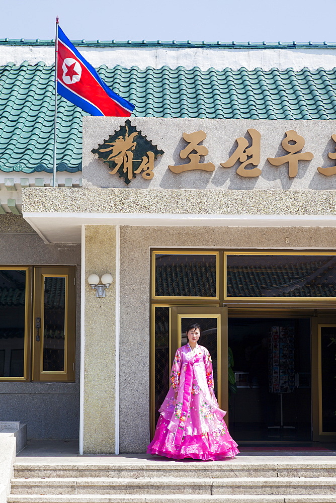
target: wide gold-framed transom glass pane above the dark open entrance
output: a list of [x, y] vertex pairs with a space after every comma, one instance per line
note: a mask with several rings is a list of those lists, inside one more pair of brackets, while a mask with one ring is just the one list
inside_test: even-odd
[[227, 255], [227, 297], [336, 297], [333, 255]]

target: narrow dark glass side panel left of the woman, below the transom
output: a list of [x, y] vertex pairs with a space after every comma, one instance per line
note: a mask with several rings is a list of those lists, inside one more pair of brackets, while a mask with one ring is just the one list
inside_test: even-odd
[[155, 307], [155, 424], [169, 390], [169, 307]]

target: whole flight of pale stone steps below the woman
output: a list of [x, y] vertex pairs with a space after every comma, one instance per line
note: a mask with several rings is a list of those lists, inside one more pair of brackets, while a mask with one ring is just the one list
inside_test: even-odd
[[17, 462], [8, 503], [336, 503], [336, 459], [322, 461]]

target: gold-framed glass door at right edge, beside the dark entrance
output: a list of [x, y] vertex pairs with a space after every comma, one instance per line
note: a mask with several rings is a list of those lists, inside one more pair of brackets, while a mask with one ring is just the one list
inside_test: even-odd
[[312, 318], [313, 440], [336, 439], [336, 318]]

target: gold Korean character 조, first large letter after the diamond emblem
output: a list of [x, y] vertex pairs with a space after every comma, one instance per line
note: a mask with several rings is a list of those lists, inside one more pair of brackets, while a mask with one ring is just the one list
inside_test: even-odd
[[[190, 162], [187, 164], [180, 164], [177, 166], [168, 166], [173, 173], [183, 173], [184, 171], [203, 170], [214, 171], [215, 165], [212, 162], [200, 162], [201, 155], [207, 155], [209, 150], [204, 145], [199, 143], [207, 137], [204, 131], [195, 131], [195, 133], [183, 133], [183, 138], [189, 145], [183, 148], [180, 152], [181, 159], [189, 157]], [[195, 150], [196, 153], [192, 153]]]

